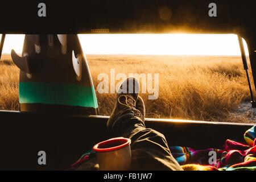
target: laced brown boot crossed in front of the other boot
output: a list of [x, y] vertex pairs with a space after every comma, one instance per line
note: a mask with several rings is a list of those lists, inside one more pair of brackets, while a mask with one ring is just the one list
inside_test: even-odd
[[[130, 93], [129, 93], [130, 92]], [[139, 93], [139, 83], [135, 78], [127, 78], [120, 86], [117, 93], [117, 100], [114, 109], [107, 123], [109, 131], [113, 131], [117, 123], [125, 118], [142, 117], [141, 111], [136, 109], [136, 102]], [[138, 105], [142, 108], [141, 102]]]

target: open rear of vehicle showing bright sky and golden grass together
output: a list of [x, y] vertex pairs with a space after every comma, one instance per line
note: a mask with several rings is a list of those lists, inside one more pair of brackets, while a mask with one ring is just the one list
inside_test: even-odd
[[[80, 34], [100, 115], [110, 115], [122, 80], [136, 77], [148, 118], [254, 123], [237, 35]], [[24, 35], [6, 35], [0, 61], [0, 109], [19, 110]], [[254, 92], [250, 60], [249, 77]], [[255, 92], [254, 92], [255, 93]], [[255, 94], [254, 94], [255, 95]]]

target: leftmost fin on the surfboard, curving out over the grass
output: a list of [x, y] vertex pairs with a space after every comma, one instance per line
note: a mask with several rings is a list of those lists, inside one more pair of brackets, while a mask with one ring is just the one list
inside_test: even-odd
[[14, 49], [11, 50], [11, 59], [13, 59], [14, 64], [23, 72], [27, 74], [31, 74], [30, 67], [28, 64], [28, 54], [23, 53], [23, 56], [20, 57], [17, 55], [17, 53], [14, 51]]

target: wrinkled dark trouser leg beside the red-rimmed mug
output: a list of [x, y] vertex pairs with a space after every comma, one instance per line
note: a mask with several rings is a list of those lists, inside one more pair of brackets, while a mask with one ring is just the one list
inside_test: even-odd
[[163, 134], [147, 129], [141, 118], [133, 114], [118, 120], [115, 133], [131, 139], [132, 170], [183, 170], [171, 155]]

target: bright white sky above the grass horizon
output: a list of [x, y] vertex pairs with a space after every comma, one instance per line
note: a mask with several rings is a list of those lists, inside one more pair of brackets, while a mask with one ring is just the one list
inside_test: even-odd
[[[79, 38], [85, 54], [241, 55], [234, 34], [80, 34]], [[11, 49], [21, 53], [23, 40], [24, 35], [6, 35], [3, 53]], [[247, 53], [246, 45], [245, 49]]]

